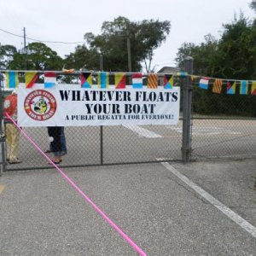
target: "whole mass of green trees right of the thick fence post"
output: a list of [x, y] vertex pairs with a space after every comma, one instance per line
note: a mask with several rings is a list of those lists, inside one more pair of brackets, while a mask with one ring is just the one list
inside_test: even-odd
[[230, 24], [224, 24], [219, 40], [211, 35], [199, 45], [185, 43], [178, 49], [177, 64], [183, 66], [183, 57], [194, 58], [194, 73], [221, 79], [256, 79], [256, 23], [242, 14]]

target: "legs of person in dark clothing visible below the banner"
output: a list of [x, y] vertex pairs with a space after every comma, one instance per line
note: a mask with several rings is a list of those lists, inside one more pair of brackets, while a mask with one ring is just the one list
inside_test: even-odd
[[53, 162], [58, 165], [61, 163], [61, 127], [60, 126], [49, 126], [48, 127], [49, 137], [52, 139], [51, 147], [52, 151], [55, 154]]

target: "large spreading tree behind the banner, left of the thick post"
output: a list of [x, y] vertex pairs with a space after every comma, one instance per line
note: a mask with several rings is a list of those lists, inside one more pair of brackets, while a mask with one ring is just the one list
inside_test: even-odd
[[[166, 40], [170, 28], [170, 21], [167, 20], [132, 22], [119, 16], [113, 21], [103, 22], [102, 34], [85, 33], [86, 45], [77, 47], [65, 61], [72, 61], [76, 68], [98, 69], [99, 55], [102, 54], [104, 70], [125, 71], [128, 69], [127, 40], [130, 39], [132, 71], [141, 71], [143, 61], [147, 71], [150, 71], [154, 49]], [[79, 55], [81, 53], [84, 53], [83, 57]]]

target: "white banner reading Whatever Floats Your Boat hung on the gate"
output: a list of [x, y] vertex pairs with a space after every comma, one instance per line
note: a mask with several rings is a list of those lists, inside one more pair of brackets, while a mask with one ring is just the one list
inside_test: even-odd
[[19, 85], [20, 126], [176, 125], [180, 88], [92, 89], [79, 84], [55, 84], [44, 88]]

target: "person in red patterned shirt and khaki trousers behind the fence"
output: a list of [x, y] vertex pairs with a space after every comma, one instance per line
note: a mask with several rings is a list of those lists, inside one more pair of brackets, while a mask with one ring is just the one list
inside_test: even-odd
[[20, 144], [20, 131], [16, 128], [7, 114], [17, 122], [17, 91], [14, 90], [11, 95], [6, 96], [3, 102], [3, 119], [5, 123], [7, 161], [9, 164], [19, 164], [18, 149]]

